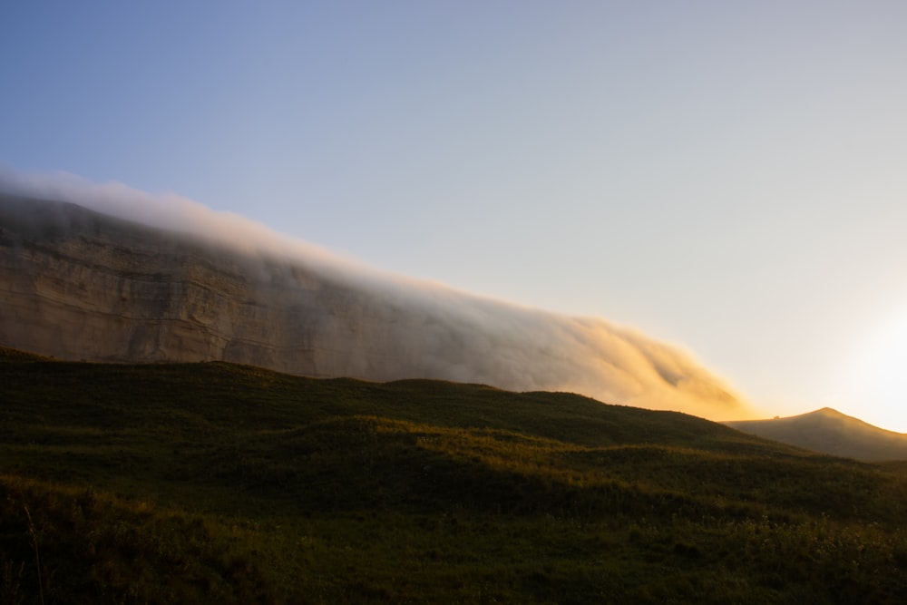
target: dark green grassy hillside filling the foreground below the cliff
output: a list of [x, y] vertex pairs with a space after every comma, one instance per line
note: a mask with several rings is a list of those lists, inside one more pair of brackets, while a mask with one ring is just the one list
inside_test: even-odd
[[0, 357], [0, 603], [907, 599], [902, 467], [578, 395]]

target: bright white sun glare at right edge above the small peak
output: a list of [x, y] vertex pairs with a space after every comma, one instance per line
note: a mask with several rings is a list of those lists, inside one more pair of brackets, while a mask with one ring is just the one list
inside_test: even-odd
[[854, 395], [864, 398], [863, 420], [907, 433], [907, 310], [873, 329], [857, 351], [848, 382]]

